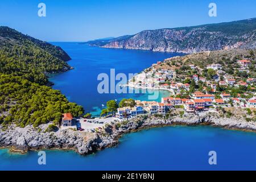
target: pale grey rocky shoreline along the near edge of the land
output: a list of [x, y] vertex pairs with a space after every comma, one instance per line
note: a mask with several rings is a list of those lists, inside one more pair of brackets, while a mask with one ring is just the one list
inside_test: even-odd
[[9, 148], [10, 152], [26, 153], [38, 150], [74, 150], [81, 155], [89, 155], [104, 148], [116, 146], [122, 135], [149, 129], [152, 127], [176, 126], [176, 125], [211, 125], [225, 127], [226, 129], [256, 131], [254, 122], [246, 122], [238, 118], [221, 118], [217, 114], [204, 116], [187, 115], [184, 117], [172, 117], [164, 119], [150, 115], [143, 115], [132, 121], [123, 121], [114, 125], [106, 125], [97, 133], [85, 133], [71, 129], [59, 130], [57, 132], [43, 132], [27, 126], [20, 129], [10, 126], [8, 130], [2, 131], [0, 126], [0, 148]]

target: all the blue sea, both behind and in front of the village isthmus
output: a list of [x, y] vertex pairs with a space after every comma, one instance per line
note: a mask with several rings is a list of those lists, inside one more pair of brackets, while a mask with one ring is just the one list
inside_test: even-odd
[[[51, 77], [53, 88], [87, 112], [100, 113], [106, 101], [122, 98], [148, 100], [147, 94], [98, 94], [97, 76], [137, 73], [158, 60], [176, 54], [89, 47], [78, 43], [54, 43], [72, 57], [72, 71]], [[168, 96], [160, 91], [160, 98]], [[209, 151], [217, 152], [217, 165], [208, 163]], [[46, 166], [38, 164], [38, 153], [9, 154], [0, 150], [0, 170], [255, 170], [256, 134], [210, 126], [163, 127], [131, 133], [120, 144], [94, 155], [72, 151], [46, 151]]]

